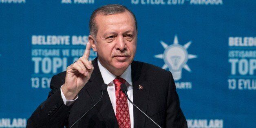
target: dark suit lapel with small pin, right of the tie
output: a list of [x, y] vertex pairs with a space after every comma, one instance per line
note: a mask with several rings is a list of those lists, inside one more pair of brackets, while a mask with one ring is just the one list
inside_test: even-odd
[[[132, 67], [132, 93], [133, 103], [138, 106], [144, 113], [147, 112], [148, 95], [150, 84], [144, 80], [146, 71], [143, 71], [142, 64], [133, 61]], [[140, 89], [142, 86], [143, 89]], [[146, 116], [143, 115], [137, 108], [133, 108], [134, 126], [144, 127]]]

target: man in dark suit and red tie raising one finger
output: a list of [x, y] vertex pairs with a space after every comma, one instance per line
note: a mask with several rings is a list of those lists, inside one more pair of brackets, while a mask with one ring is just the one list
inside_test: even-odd
[[[84, 55], [52, 77], [48, 99], [31, 115], [27, 127], [72, 126], [98, 101], [105, 83], [108, 89], [102, 100], [74, 127], [157, 127], [128, 102], [120, 90], [126, 84], [134, 104], [161, 127], [187, 128], [172, 74], [133, 60], [137, 22], [130, 10], [117, 4], [96, 9], [88, 39]], [[90, 48], [98, 56], [92, 62]]]

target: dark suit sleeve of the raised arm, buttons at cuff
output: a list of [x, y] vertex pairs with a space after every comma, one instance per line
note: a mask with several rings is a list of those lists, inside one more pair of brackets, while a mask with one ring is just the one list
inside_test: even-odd
[[67, 123], [71, 107], [63, 103], [60, 87], [64, 84], [58, 75], [51, 79], [48, 98], [33, 112], [27, 121], [27, 128], [45, 127], [60, 128]]

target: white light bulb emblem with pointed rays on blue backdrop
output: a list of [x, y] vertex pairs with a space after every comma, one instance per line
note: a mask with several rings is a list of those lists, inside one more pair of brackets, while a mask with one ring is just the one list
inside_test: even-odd
[[165, 64], [162, 66], [162, 68], [169, 68], [174, 80], [181, 79], [182, 68], [189, 72], [191, 71], [190, 67], [187, 65], [188, 59], [197, 57], [196, 55], [188, 54], [187, 49], [190, 46], [191, 41], [182, 46], [178, 42], [177, 35], [175, 35], [172, 45], [168, 46], [168, 44], [163, 41], [160, 41], [160, 43], [165, 51], [163, 54], [154, 55], [154, 57], [164, 60]]

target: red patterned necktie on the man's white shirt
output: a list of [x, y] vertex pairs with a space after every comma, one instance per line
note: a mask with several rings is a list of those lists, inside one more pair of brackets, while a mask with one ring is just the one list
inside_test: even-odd
[[114, 79], [115, 84], [115, 98], [116, 98], [116, 117], [119, 128], [130, 128], [130, 114], [128, 108], [128, 102], [125, 94], [121, 90], [121, 84], [126, 81], [123, 78], [117, 77]]

